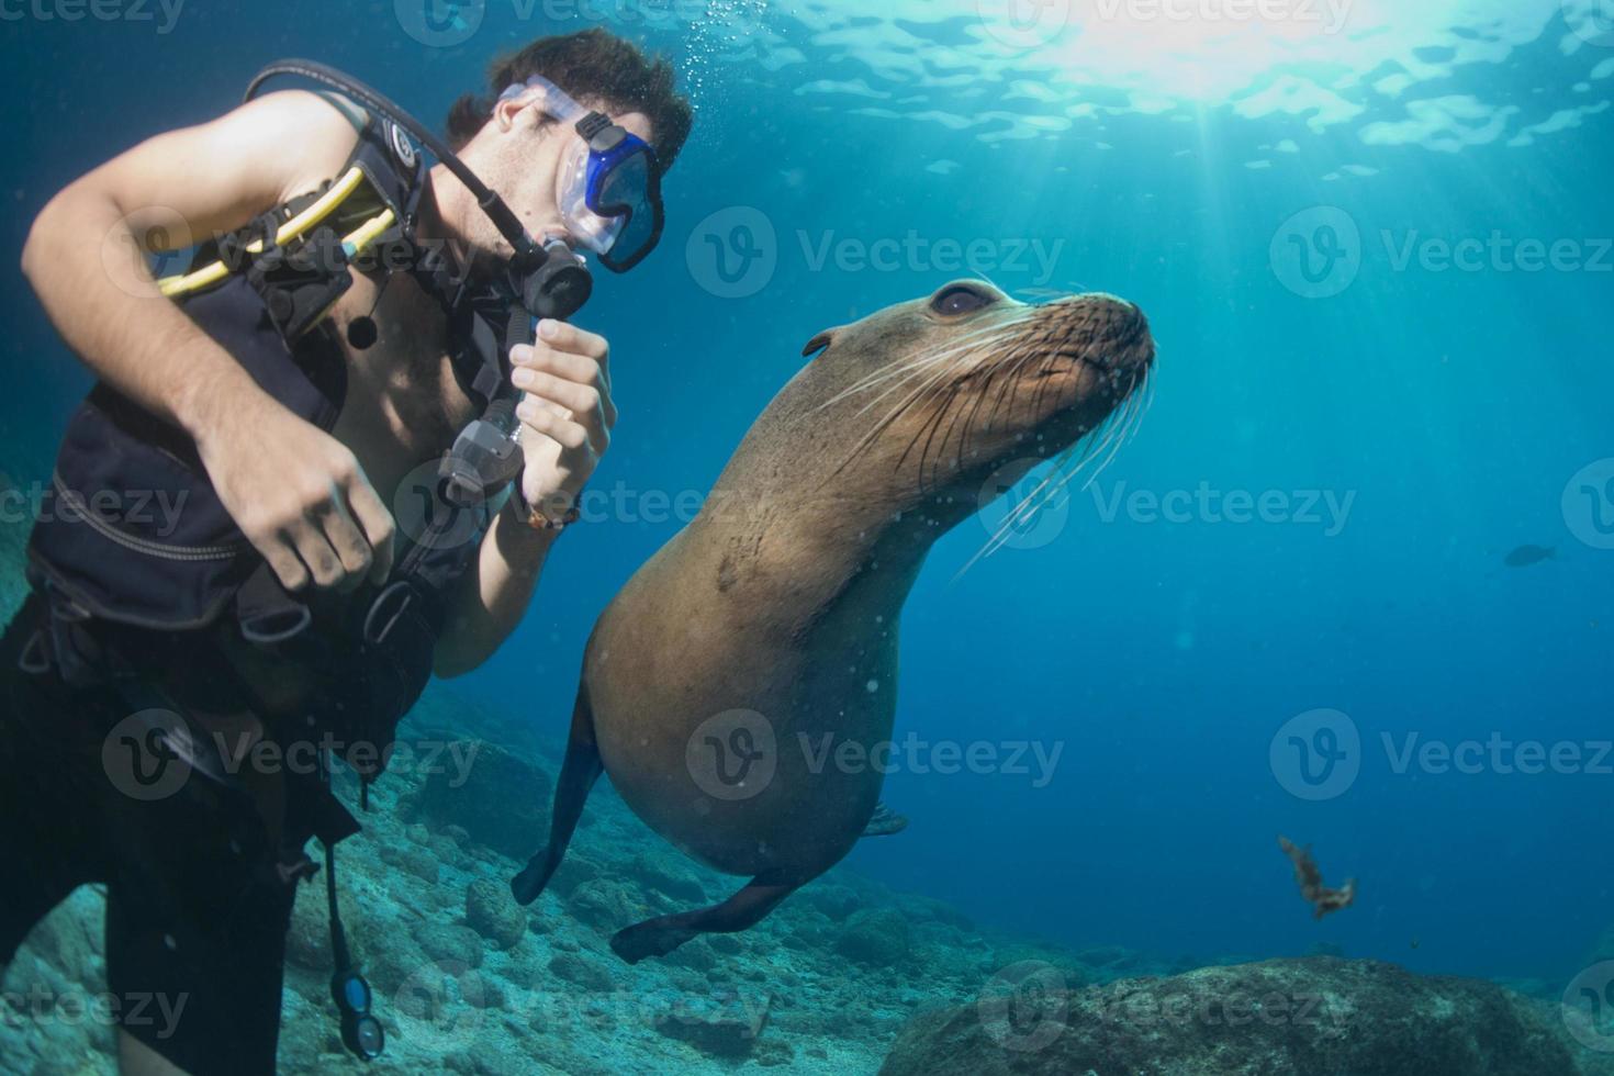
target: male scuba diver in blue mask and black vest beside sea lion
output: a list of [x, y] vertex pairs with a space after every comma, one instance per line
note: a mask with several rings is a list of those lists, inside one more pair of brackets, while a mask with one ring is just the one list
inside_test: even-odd
[[[271, 77], [320, 89], [260, 95]], [[331, 760], [368, 792], [426, 681], [521, 619], [617, 421], [607, 340], [567, 321], [591, 289], [573, 250], [621, 273], [655, 248], [691, 123], [671, 68], [597, 29], [495, 61], [447, 144], [282, 61], [39, 213], [23, 269], [97, 382], [0, 653], [0, 963], [105, 884], [124, 1073], [276, 1070], [320, 870], [342, 1041], [381, 1055]]]

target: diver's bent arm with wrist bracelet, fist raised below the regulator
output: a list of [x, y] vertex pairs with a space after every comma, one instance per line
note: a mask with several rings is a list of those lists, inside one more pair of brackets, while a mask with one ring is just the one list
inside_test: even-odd
[[[518, 347], [510, 358], [513, 381], [526, 394], [516, 410], [526, 471], [513, 495], [557, 516], [573, 505], [610, 447], [617, 424], [610, 345], [576, 326], [546, 321], [533, 347]], [[534, 531], [510, 510], [499, 513], [437, 644], [439, 676], [475, 669], [515, 631], [554, 540], [554, 531]]]

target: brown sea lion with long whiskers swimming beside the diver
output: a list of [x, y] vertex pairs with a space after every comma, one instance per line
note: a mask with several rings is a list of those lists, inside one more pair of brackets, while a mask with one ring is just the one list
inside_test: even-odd
[[1154, 340], [1109, 295], [1028, 307], [957, 281], [802, 353], [817, 358], [700, 515], [599, 618], [549, 844], [512, 881], [521, 903], [542, 892], [602, 769], [683, 852], [752, 878], [720, 905], [618, 932], [629, 963], [755, 924], [851, 850], [883, 763], [839, 752], [891, 739], [897, 618], [925, 553], [983, 487], [1004, 492], [989, 481], [1007, 463], [1068, 458], [1138, 398]]

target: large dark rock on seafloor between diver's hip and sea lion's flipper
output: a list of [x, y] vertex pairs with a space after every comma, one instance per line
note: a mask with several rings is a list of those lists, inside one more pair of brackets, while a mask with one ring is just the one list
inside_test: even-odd
[[526, 861], [549, 832], [549, 774], [486, 740], [475, 742], [475, 753], [462, 745], [457, 757], [462, 765], [445, 760], [426, 774], [415, 815], [442, 832], [458, 826], [476, 844]]

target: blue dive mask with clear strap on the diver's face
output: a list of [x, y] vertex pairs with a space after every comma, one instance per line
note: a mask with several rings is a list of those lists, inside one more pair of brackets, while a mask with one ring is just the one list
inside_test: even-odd
[[562, 163], [557, 190], [567, 232], [612, 273], [626, 273], [644, 261], [667, 223], [655, 150], [608, 116], [583, 108], [546, 77], [533, 76], [499, 95], [500, 102], [512, 98], [575, 124], [581, 136]]

